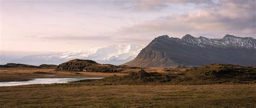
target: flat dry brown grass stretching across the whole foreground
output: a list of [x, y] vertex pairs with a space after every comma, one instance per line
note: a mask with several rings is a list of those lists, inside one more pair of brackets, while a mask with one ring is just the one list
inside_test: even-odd
[[256, 85], [23, 85], [0, 97], [3, 107], [256, 107]]

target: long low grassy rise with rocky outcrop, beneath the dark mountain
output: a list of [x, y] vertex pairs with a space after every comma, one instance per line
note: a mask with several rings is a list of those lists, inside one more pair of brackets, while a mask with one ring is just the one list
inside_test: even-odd
[[[140, 70], [127, 76], [111, 76], [98, 80], [96, 83], [104, 84], [220, 84], [220, 83], [256, 83], [256, 68], [229, 65], [212, 64], [194, 68], [184, 68], [186, 71], [170, 72], [146, 72]], [[93, 83], [94, 84], [94, 83]]]

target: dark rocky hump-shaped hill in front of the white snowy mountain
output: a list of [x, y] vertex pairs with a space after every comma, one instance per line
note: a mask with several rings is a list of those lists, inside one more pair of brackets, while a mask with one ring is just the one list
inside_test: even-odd
[[56, 71], [120, 72], [122, 66], [99, 64], [93, 60], [73, 59], [58, 65]]

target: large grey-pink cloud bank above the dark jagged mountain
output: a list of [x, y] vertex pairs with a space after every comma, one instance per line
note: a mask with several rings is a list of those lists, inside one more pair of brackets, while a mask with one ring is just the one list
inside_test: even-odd
[[181, 37], [186, 33], [195, 36], [256, 37], [256, 1], [220, 1], [206, 5], [197, 12], [178, 16], [164, 16], [152, 21], [120, 28], [119, 33], [130, 36], [171, 35]]

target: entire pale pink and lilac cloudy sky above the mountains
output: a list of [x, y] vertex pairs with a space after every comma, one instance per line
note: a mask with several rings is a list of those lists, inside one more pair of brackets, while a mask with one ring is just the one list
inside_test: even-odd
[[0, 52], [62, 52], [155, 37], [256, 38], [255, 0], [0, 0]]

